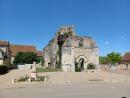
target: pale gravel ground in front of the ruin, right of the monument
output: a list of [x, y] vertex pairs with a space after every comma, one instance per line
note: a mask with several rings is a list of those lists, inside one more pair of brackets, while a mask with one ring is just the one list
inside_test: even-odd
[[48, 83], [89, 83], [89, 82], [130, 82], [130, 76], [105, 71], [94, 72], [47, 72], [39, 73], [47, 75]]

